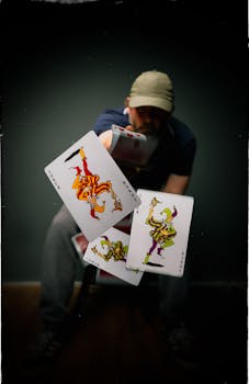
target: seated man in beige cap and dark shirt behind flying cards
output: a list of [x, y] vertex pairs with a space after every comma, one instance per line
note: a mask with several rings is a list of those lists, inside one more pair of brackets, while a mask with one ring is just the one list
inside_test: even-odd
[[[142, 168], [123, 168], [135, 188], [183, 194], [190, 182], [195, 155], [195, 138], [188, 126], [172, 116], [174, 98], [167, 74], [149, 70], [134, 81], [125, 108], [105, 110], [94, 131], [106, 149], [111, 145], [111, 125], [116, 124], [145, 135], [156, 135], [158, 146]], [[80, 231], [65, 206], [54, 217], [48, 230], [42, 263], [41, 312], [44, 332], [33, 349], [33, 357], [49, 358], [59, 345], [59, 335], [68, 317], [73, 290], [77, 258], [71, 237]], [[176, 316], [172, 306], [184, 297], [184, 279], [160, 276], [160, 308], [165, 316]], [[167, 293], [167, 294], [165, 294]], [[181, 298], [182, 298], [181, 297]], [[179, 302], [179, 303], [178, 303]]]

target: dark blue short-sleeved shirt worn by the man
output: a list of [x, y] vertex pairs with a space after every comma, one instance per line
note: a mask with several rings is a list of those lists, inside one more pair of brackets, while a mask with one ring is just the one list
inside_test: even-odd
[[[124, 108], [105, 110], [95, 121], [94, 132], [99, 136], [111, 129], [112, 124], [129, 125]], [[191, 129], [174, 116], [160, 136], [157, 149], [145, 168], [122, 169], [131, 184], [137, 189], [159, 191], [167, 182], [170, 173], [190, 176], [192, 172], [196, 140]], [[121, 167], [122, 168], [122, 167]]]

